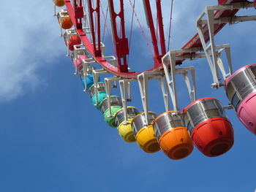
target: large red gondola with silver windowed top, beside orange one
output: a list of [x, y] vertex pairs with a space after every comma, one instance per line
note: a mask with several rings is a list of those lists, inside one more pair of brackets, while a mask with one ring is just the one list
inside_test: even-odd
[[189, 104], [183, 112], [185, 125], [192, 140], [204, 155], [222, 155], [233, 146], [233, 128], [219, 100], [198, 99]]

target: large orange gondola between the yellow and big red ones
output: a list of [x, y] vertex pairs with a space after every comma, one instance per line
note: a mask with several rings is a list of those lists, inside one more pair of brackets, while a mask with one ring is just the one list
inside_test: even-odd
[[161, 149], [169, 158], [178, 160], [192, 153], [193, 142], [182, 118], [172, 114], [169, 111], [159, 115], [153, 127]]

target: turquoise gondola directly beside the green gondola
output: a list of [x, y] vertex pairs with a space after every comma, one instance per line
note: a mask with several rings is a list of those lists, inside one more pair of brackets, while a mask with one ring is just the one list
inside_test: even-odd
[[107, 93], [105, 91], [105, 82], [98, 82], [98, 103], [96, 103], [96, 88], [93, 85], [89, 88], [89, 93], [91, 96], [91, 102], [98, 110], [100, 110], [100, 103], [107, 97]]

